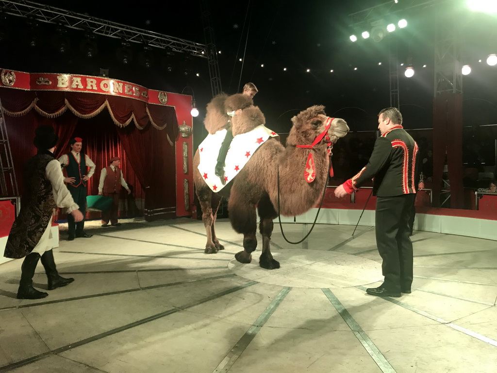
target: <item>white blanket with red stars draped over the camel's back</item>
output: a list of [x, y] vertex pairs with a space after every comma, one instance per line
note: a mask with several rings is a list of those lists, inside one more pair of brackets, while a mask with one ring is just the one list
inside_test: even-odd
[[198, 146], [200, 154], [200, 164], [198, 171], [203, 176], [205, 183], [212, 191], [220, 191], [226, 184], [232, 181], [238, 175], [240, 170], [244, 168], [248, 160], [255, 153], [257, 148], [263, 144], [269, 137], [278, 136], [277, 133], [266, 128], [264, 125], [259, 125], [247, 133], [236, 135], [231, 141], [230, 148], [225, 161], [225, 185], [221, 183], [221, 179], [216, 176], [214, 169], [216, 167], [219, 156], [219, 149], [226, 137], [227, 130], [217, 131], [213, 135], [207, 135], [204, 141]]

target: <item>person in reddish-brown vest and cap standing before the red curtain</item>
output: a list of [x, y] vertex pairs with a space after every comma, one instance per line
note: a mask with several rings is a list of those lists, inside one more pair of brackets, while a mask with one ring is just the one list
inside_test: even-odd
[[117, 212], [119, 210], [119, 189], [122, 185], [128, 194], [131, 193], [130, 188], [123, 178], [123, 174], [119, 165], [121, 160], [119, 157], [110, 159], [110, 166], [104, 167], [100, 172], [100, 184], [98, 185], [98, 195], [104, 195], [112, 198], [112, 205], [107, 211], [102, 211], [102, 227], [119, 226], [121, 223], [117, 222]]

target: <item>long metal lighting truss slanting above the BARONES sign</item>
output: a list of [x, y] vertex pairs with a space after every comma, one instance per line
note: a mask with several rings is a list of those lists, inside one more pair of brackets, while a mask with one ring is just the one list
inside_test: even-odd
[[0, 12], [32, 18], [40, 22], [54, 23], [76, 30], [84, 30], [128, 42], [146, 44], [149, 47], [169, 49], [175, 52], [188, 53], [196, 57], [207, 58], [207, 48], [204, 44], [36, 2], [0, 0]]

